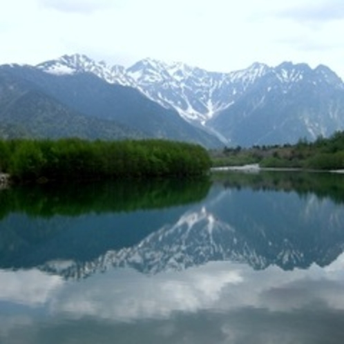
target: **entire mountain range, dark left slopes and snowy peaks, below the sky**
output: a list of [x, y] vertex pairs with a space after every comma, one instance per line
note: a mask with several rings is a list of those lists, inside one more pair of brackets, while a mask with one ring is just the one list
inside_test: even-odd
[[85, 55], [0, 66], [0, 137], [163, 137], [206, 147], [296, 143], [344, 129], [344, 83], [326, 66], [230, 73]]

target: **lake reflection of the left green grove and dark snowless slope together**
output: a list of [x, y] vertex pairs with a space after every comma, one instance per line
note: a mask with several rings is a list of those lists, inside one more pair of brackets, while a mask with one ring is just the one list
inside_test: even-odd
[[0, 194], [0, 267], [87, 262], [137, 244], [209, 191], [209, 180], [20, 187]]

